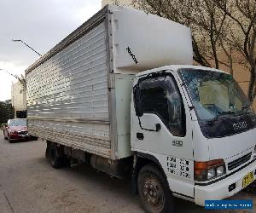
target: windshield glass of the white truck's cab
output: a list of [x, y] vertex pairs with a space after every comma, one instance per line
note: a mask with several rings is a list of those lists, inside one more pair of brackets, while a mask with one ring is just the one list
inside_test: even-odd
[[179, 73], [199, 120], [212, 120], [219, 115], [237, 112], [253, 112], [247, 96], [231, 75], [197, 69], [182, 69]]

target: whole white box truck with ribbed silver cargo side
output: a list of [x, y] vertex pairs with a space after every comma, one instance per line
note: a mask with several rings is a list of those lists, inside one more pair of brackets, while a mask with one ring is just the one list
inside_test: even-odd
[[192, 54], [188, 27], [107, 5], [26, 69], [29, 134], [55, 168], [131, 176], [147, 212], [230, 197], [256, 177], [256, 116]]

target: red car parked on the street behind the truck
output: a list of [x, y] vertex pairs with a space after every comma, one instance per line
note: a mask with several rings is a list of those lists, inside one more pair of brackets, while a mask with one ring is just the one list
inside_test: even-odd
[[3, 128], [4, 139], [8, 139], [9, 143], [30, 138], [27, 134], [26, 118], [10, 119], [7, 126]]

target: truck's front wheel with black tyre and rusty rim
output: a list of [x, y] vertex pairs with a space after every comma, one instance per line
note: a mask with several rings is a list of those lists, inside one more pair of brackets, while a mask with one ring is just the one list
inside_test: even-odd
[[137, 188], [146, 212], [174, 212], [173, 196], [166, 177], [154, 164], [147, 164], [139, 171]]

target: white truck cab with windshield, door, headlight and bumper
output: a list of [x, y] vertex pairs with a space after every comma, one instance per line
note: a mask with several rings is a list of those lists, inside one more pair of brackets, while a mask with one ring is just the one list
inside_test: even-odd
[[[131, 150], [154, 161], [173, 196], [203, 206], [207, 199], [225, 199], [253, 182], [255, 127], [247, 97], [228, 73], [164, 66], [134, 80]], [[141, 197], [145, 205], [155, 206], [157, 199], [147, 191], [150, 178], [143, 177], [141, 190], [148, 196], [141, 192]]]

